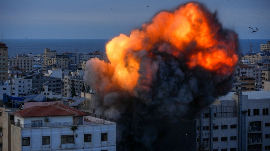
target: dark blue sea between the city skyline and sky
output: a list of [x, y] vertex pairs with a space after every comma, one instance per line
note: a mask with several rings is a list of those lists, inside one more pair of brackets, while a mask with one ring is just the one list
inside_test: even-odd
[[[58, 54], [64, 52], [105, 52], [105, 46], [110, 39], [4, 39], [8, 47], [8, 57], [17, 54], [44, 54], [44, 49], [56, 50]], [[238, 39], [238, 51], [243, 55], [260, 51], [260, 44], [266, 44], [270, 39]]]

